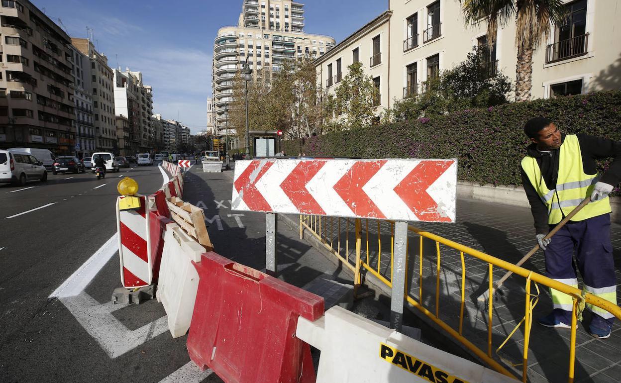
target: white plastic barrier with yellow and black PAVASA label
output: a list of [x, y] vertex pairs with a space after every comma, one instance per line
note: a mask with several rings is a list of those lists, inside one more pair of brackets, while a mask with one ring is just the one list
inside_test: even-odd
[[321, 350], [317, 383], [516, 382], [338, 306], [315, 322], [299, 317], [296, 336]]

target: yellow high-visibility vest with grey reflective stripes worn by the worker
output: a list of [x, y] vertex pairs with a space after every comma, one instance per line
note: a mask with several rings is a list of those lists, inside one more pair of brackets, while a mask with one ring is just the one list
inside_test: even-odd
[[[578, 206], [591, 194], [593, 185], [599, 180], [599, 174], [584, 173], [580, 143], [576, 135], [566, 135], [561, 145], [555, 189], [550, 190], [546, 186], [535, 157], [525, 156], [522, 159], [522, 169], [543, 203], [548, 207], [550, 225], [561, 222], [561, 219], [571, 212], [571, 208]], [[610, 200], [606, 197], [586, 205], [574, 215], [572, 220], [581, 221], [610, 211]]]

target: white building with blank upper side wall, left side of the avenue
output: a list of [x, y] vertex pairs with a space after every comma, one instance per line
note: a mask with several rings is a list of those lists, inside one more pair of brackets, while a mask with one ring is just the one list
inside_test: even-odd
[[132, 153], [148, 153], [153, 150], [155, 132], [152, 131], [153, 97], [151, 86], [142, 82], [142, 73], [114, 70], [114, 114], [124, 115], [130, 124]]

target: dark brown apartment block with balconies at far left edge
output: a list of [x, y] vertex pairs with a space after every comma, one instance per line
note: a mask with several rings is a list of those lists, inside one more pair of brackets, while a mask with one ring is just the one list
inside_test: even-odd
[[70, 37], [27, 0], [0, 4], [0, 148], [73, 154]]

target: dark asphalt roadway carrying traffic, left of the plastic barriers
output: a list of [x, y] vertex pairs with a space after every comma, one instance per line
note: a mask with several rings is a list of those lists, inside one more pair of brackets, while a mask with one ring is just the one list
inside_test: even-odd
[[[163, 317], [155, 300], [119, 307], [108, 322], [94, 318], [89, 333], [61, 300], [49, 298], [116, 233], [116, 185], [124, 176], [138, 182], [140, 194], [163, 183], [158, 166], [140, 166], [99, 181], [91, 173], [50, 174], [45, 183], [0, 184], [1, 382], [159, 382], [188, 363], [185, 338], [168, 333], [114, 358], [102, 349], [127, 341], [125, 333], [107, 330], [112, 317], [127, 331]], [[107, 304], [116, 287], [117, 254], [84, 293], [92, 304]]]

